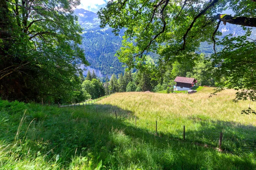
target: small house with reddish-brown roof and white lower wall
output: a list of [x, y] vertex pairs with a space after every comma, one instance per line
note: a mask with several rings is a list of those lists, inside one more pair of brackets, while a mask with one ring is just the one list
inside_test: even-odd
[[189, 77], [176, 77], [174, 82], [176, 82], [173, 86], [175, 91], [187, 91], [194, 87], [197, 80]]

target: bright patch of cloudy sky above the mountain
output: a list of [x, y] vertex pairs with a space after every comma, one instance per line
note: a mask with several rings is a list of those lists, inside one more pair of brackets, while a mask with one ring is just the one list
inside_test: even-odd
[[80, 0], [80, 5], [77, 8], [97, 12], [100, 8], [105, 7], [110, 0]]

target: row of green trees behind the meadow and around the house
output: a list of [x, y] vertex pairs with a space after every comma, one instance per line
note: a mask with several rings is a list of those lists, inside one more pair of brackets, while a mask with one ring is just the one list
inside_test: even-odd
[[[104, 79], [96, 74], [87, 72], [87, 77], [80, 75], [80, 89], [75, 92], [75, 97], [70, 102], [83, 102], [87, 99], [117, 93], [132, 91], [172, 91], [174, 79], [180, 77], [193, 77], [201, 85], [214, 86], [213, 70], [209, 67], [212, 63], [204, 54], [193, 54], [197, 59], [194, 62], [174, 62], [172, 65], [145, 65], [143, 69], [132, 69], [118, 75], [108, 75]], [[159, 69], [161, 68], [161, 69]]]

